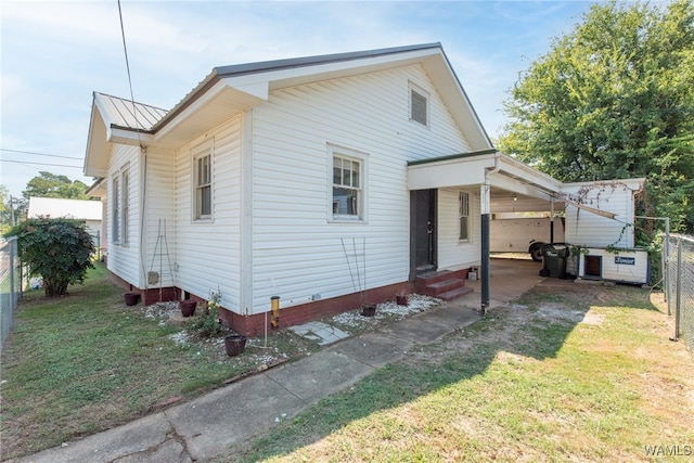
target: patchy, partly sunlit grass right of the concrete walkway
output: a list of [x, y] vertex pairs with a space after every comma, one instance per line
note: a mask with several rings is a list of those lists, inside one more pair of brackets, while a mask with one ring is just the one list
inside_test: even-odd
[[538, 287], [217, 461], [692, 455], [694, 358], [670, 331], [645, 290]]

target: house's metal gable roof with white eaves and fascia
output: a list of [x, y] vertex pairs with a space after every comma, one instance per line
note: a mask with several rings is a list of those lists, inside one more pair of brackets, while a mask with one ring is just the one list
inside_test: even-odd
[[437, 42], [215, 67], [168, 112], [94, 93], [85, 172], [105, 176], [110, 143], [176, 149], [224, 123], [232, 114], [267, 101], [273, 90], [415, 63], [426, 70], [471, 149], [492, 147]]

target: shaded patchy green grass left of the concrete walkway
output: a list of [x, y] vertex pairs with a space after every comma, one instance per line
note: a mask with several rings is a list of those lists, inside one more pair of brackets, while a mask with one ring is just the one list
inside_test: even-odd
[[[126, 423], [163, 401], [190, 399], [316, 346], [288, 331], [248, 339], [196, 339], [166, 310], [127, 307], [98, 265], [85, 285], [47, 299], [25, 294], [2, 352], [2, 458], [14, 458]], [[175, 309], [178, 311], [178, 309]]]

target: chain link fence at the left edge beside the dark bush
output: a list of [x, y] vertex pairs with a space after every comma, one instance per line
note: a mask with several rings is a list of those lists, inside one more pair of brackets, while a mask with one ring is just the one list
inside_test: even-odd
[[0, 240], [0, 349], [14, 325], [14, 311], [22, 292], [17, 239]]

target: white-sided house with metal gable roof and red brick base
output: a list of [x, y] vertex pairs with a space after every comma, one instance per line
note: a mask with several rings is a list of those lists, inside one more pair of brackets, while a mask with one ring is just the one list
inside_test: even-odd
[[218, 292], [246, 334], [272, 296], [281, 326], [455, 297], [488, 275], [491, 197], [570, 190], [497, 152], [439, 43], [216, 67], [170, 111], [94, 93], [85, 173], [113, 275], [145, 303]]

